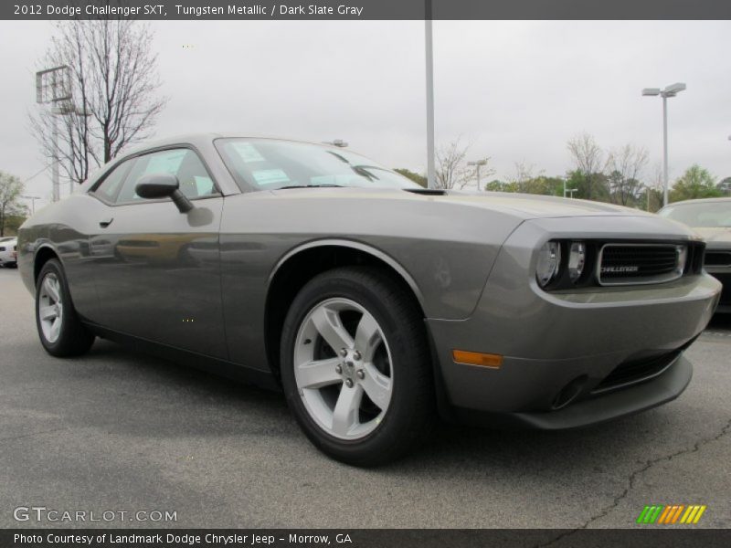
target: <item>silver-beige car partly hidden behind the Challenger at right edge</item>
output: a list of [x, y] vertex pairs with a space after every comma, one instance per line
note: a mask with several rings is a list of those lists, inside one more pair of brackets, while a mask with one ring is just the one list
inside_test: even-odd
[[731, 198], [675, 202], [658, 214], [693, 227], [704, 237], [704, 268], [724, 286], [716, 311], [731, 313]]

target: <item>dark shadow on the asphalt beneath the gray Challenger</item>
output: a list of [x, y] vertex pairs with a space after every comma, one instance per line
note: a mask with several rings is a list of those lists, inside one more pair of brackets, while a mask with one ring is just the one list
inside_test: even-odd
[[[71, 368], [75, 372], [66, 373], [81, 377], [82, 382], [88, 379], [97, 393], [85, 396], [85, 405], [67, 406], [67, 412], [79, 414], [74, 422], [135, 437], [240, 435], [286, 437], [306, 444], [281, 393], [242, 385], [106, 341], [96, 342], [78, 365]], [[679, 419], [661, 407], [598, 426], [551, 432], [438, 421], [421, 448], [381, 470], [445, 472], [468, 466], [507, 473], [520, 463], [522, 470], [514, 473], [561, 474], [573, 469], [596, 474], [607, 466], [610, 454], [636, 459], [631, 457], [633, 449], [641, 453], [648, 436], [662, 437], [662, 432], [675, 427]]]

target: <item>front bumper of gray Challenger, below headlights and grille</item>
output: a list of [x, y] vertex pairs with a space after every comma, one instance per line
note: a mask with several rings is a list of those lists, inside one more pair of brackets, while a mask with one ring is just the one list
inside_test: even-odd
[[[533, 248], [535, 235], [509, 238], [470, 318], [427, 320], [441, 385], [458, 416], [471, 410], [533, 427], [577, 427], [683, 392], [692, 367], [681, 352], [715, 311], [716, 279], [704, 273], [652, 286], [546, 292], [528, 275]], [[454, 349], [500, 354], [503, 364], [457, 364]], [[644, 364], [658, 361], [660, 369], [642, 376]], [[605, 379], [620, 367], [641, 374], [607, 389]]]

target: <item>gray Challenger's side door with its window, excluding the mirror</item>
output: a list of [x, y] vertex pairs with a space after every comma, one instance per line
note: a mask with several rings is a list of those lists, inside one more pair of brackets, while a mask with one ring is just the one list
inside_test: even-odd
[[[181, 213], [169, 198], [138, 196], [140, 178], [154, 173], [175, 174], [194, 208]], [[104, 205], [90, 237], [101, 325], [226, 358], [218, 248], [223, 197], [196, 151], [136, 156], [91, 195]]]

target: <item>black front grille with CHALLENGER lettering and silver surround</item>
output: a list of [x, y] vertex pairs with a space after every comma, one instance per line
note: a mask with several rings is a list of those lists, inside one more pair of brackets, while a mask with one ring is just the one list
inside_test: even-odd
[[606, 244], [599, 252], [597, 279], [601, 285], [678, 279], [683, 276], [681, 255], [686, 250], [675, 244]]

